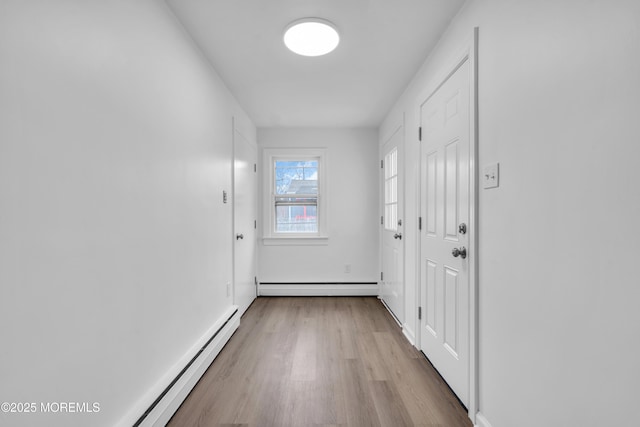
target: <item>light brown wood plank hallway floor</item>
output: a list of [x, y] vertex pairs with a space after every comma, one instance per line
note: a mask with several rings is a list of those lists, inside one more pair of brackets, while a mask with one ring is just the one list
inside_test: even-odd
[[374, 297], [258, 298], [169, 426], [469, 427]]

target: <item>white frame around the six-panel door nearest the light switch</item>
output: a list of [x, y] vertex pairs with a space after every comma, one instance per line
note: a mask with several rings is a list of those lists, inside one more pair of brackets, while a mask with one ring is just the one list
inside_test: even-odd
[[[479, 309], [478, 309], [478, 202], [479, 202], [479, 179], [478, 171], [478, 27], [473, 29], [473, 34], [468, 38], [464, 47], [459, 53], [444, 63], [444, 66], [438, 67], [439, 72], [436, 78], [433, 78], [426, 85], [426, 90], [418, 97], [416, 111], [420, 111], [420, 106], [426, 102], [445, 81], [460, 67], [465, 61], [469, 61], [469, 407], [468, 416], [475, 424], [476, 414], [479, 408], [479, 379], [478, 379], [478, 360], [479, 360]], [[421, 126], [422, 123], [419, 124]], [[422, 148], [420, 148], [422, 150]], [[420, 164], [419, 169], [422, 170]], [[420, 175], [421, 176], [421, 175]], [[418, 193], [422, 196], [422, 182], [418, 178]], [[417, 216], [423, 215], [421, 212], [422, 202], [419, 199], [417, 205]], [[422, 248], [420, 246], [420, 231], [418, 231], [418, 259], [421, 259]], [[418, 307], [422, 304], [422, 275], [420, 271], [420, 262], [416, 263], [417, 280], [417, 298], [416, 298], [416, 316]], [[419, 328], [422, 327], [422, 320], [417, 319]], [[416, 348], [422, 348], [421, 334], [416, 333]]]

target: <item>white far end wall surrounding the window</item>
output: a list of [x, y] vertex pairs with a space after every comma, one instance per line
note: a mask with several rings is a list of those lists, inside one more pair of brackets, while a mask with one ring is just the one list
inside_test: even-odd
[[[258, 129], [261, 149], [327, 149], [329, 235], [328, 244], [320, 246], [266, 246], [260, 242], [259, 281], [377, 282], [377, 141], [374, 129]], [[265, 176], [261, 175], [262, 179]], [[345, 264], [351, 264], [351, 273], [344, 272]]]

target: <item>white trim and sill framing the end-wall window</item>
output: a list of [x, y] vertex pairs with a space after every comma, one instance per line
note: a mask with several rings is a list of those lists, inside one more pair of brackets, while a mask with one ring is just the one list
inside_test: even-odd
[[[318, 197], [316, 233], [282, 233], [275, 231], [275, 162], [276, 160], [317, 160]], [[327, 154], [324, 148], [265, 148], [263, 164], [263, 243], [265, 245], [324, 245], [327, 234]]]

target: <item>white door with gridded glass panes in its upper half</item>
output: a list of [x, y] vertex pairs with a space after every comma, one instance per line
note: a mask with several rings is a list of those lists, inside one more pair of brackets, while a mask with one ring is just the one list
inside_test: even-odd
[[382, 147], [382, 300], [404, 323], [404, 274], [402, 240], [402, 142], [399, 127]]

